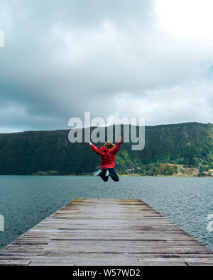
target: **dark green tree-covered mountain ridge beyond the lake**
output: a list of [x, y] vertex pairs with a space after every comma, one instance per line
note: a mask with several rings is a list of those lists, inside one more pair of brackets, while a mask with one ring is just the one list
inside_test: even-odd
[[[99, 156], [92, 152], [88, 143], [71, 144], [69, 131], [0, 134], [0, 174], [34, 174], [50, 170], [55, 171], [52, 174], [82, 174], [97, 169]], [[98, 143], [97, 147], [100, 145]], [[213, 125], [146, 126], [144, 150], [132, 151], [131, 143], [123, 143], [116, 157], [116, 169], [124, 174], [128, 170], [140, 173], [162, 163], [213, 168]]]

